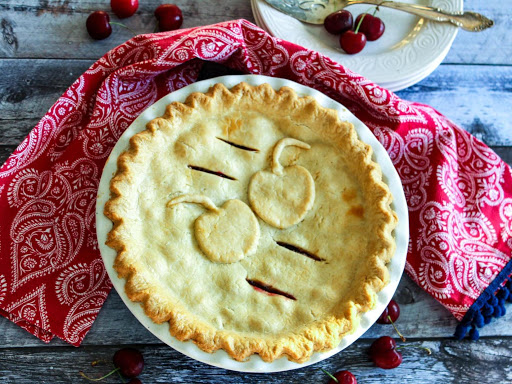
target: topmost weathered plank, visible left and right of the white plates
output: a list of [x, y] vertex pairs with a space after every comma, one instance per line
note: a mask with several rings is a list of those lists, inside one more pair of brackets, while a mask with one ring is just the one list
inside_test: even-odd
[[[136, 15], [123, 23], [137, 33], [155, 28], [153, 12], [157, 0], [140, 2]], [[245, 18], [254, 22], [248, 0], [177, 0], [184, 14], [184, 28]], [[508, 36], [509, 15], [501, 0], [467, 0], [466, 9], [475, 9], [493, 18], [496, 25], [478, 34], [461, 31], [445, 59], [446, 63], [511, 64], [512, 43]], [[114, 27], [103, 41], [92, 41], [85, 30], [88, 14], [95, 10], [110, 11], [109, 2], [79, 0], [12, 0], [0, 2], [2, 37], [0, 57], [17, 58], [89, 58], [97, 59], [109, 49], [123, 43], [131, 33]], [[115, 17], [113, 21], [119, 21]], [[34, 33], [34, 25], [38, 33]]]

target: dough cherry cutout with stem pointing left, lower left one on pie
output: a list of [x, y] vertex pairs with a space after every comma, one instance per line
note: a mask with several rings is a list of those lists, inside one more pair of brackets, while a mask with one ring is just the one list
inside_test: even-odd
[[202, 205], [208, 210], [194, 222], [194, 232], [201, 251], [215, 263], [234, 263], [256, 251], [260, 226], [251, 208], [243, 201], [228, 200], [218, 208], [203, 195], [182, 195], [167, 203]]

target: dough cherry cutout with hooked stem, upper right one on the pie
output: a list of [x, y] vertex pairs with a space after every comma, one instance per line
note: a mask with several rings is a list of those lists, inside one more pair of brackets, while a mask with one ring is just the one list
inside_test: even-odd
[[287, 146], [310, 149], [302, 141], [284, 138], [272, 153], [270, 170], [256, 172], [249, 182], [249, 203], [256, 214], [273, 227], [285, 229], [301, 222], [315, 202], [315, 182], [300, 165], [283, 167], [279, 157]]

